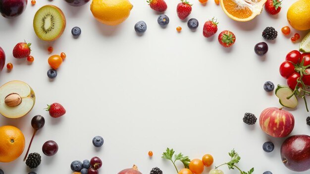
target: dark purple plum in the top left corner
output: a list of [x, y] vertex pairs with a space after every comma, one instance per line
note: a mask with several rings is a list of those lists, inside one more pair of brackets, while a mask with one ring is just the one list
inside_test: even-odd
[[11, 19], [25, 11], [27, 0], [0, 0], [0, 12], [5, 18]]

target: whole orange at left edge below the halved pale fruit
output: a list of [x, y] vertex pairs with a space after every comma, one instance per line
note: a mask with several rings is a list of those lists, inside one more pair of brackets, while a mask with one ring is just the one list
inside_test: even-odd
[[8, 163], [17, 159], [24, 151], [25, 137], [17, 127], [0, 127], [0, 162]]

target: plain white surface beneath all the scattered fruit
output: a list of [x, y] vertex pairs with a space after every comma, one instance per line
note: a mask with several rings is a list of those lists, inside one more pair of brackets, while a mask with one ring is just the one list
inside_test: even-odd
[[[20, 158], [11, 163], [0, 163], [5, 174], [27, 174], [22, 158], [33, 133], [30, 121], [35, 115], [46, 119], [45, 126], [37, 132], [30, 149], [42, 155], [42, 164], [34, 171], [38, 174], [71, 174], [74, 160], [98, 156], [103, 161], [100, 174], [117, 174], [136, 164], [143, 174], [159, 167], [164, 174], [175, 174], [171, 162], [161, 159], [167, 147], [201, 159], [204, 154], [214, 157], [214, 165], [230, 160], [228, 152], [235, 148], [240, 154], [238, 164], [244, 171], [255, 168], [255, 174], [271, 171], [273, 174], [295, 174], [282, 164], [280, 146], [284, 138], [272, 138], [261, 131], [259, 122], [254, 126], [243, 123], [244, 113], [251, 112], [258, 118], [268, 107], [280, 107], [274, 94], [263, 90], [267, 80], [275, 85], [285, 84], [279, 74], [279, 65], [291, 50], [298, 49], [290, 37], [281, 33], [288, 25], [286, 11], [296, 0], [286, 0], [280, 14], [268, 15], [265, 10], [249, 22], [236, 22], [228, 18], [213, 0], [201, 5], [192, 0], [193, 11], [187, 18], [197, 18], [197, 31], [187, 27], [176, 15], [177, 0], [166, 0], [165, 12], [170, 18], [167, 28], [157, 24], [158, 14], [148, 7], [145, 0], [131, 0], [134, 5], [129, 18], [119, 26], [105, 26], [95, 20], [90, 4], [73, 7], [64, 0], [30, 0], [26, 11], [18, 18], [0, 17], [0, 46], [6, 53], [6, 63], [12, 62], [11, 72], [4, 67], [0, 84], [10, 80], [28, 83], [36, 93], [33, 110], [19, 119], [0, 117], [0, 125], [19, 127], [26, 138], [26, 147]], [[45, 4], [60, 7], [67, 20], [63, 35], [55, 42], [44, 42], [33, 31], [35, 12]], [[213, 16], [218, 19], [218, 32], [206, 39], [203, 24]], [[134, 31], [134, 24], [144, 20], [148, 30], [143, 36]], [[79, 26], [78, 39], [71, 29]], [[176, 27], [183, 29], [176, 32]], [[267, 26], [278, 31], [275, 41], [266, 41], [261, 32]], [[223, 48], [217, 41], [222, 30], [235, 33], [236, 43]], [[296, 33], [292, 29], [292, 36]], [[298, 32], [301, 38], [306, 32]], [[31, 42], [35, 61], [17, 60], [12, 56], [16, 43]], [[266, 42], [269, 51], [265, 58], [254, 53], [258, 42]], [[50, 68], [47, 48], [52, 54], [66, 53], [67, 58], [58, 69], [53, 81], [47, 77]], [[67, 114], [52, 118], [43, 109], [46, 104], [61, 103]], [[309, 134], [304, 103], [291, 111], [295, 116], [293, 134]], [[103, 147], [96, 149], [92, 138], [101, 135]], [[54, 140], [58, 153], [47, 157], [42, 145]], [[270, 140], [275, 150], [265, 153], [261, 146]], [[152, 150], [152, 159], [148, 151]], [[181, 163], [177, 163], [179, 170]], [[209, 171], [211, 168], [206, 168]], [[239, 174], [221, 167], [225, 174]], [[308, 172], [300, 173], [306, 174]]]

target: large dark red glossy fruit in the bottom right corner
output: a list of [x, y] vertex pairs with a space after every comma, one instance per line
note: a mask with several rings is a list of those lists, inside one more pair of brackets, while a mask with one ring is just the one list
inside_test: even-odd
[[281, 145], [281, 159], [283, 164], [295, 172], [310, 169], [310, 136], [293, 135]]

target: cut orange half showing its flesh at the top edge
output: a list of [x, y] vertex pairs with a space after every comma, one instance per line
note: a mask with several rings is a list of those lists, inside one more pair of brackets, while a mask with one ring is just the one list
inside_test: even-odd
[[267, 0], [220, 0], [228, 17], [236, 21], [249, 21], [261, 13]]

